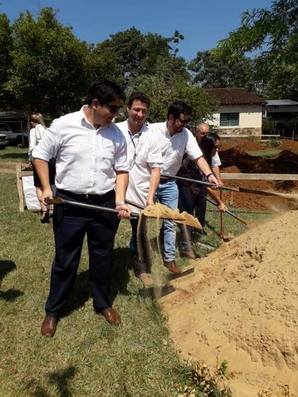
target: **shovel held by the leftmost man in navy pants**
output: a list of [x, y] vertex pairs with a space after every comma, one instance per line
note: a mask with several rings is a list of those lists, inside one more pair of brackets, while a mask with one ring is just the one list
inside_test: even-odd
[[[119, 210], [115, 209], [115, 208], [109, 208], [109, 207], [101, 207], [99, 205], [94, 205], [94, 204], [88, 204], [85, 202], [80, 202], [80, 201], [73, 201], [73, 200], [66, 200], [66, 199], [62, 199], [61, 197], [55, 196], [53, 199], [45, 199], [45, 202], [47, 204], [67, 204], [67, 205], [71, 205], [74, 207], [80, 207], [80, 208], [86, 208], [86, 209], [93, 209], [95, 211], [105, 211], [105, 212], [110, 212], [110, 213], [114, 213], [114, 214], [119, 214]], [[180, 213], [178, 213], [177, 211], [173, 211], [172, 209], [167, 208], [168, 213], [171, 215], [170, 219], [171, 220], [180, 220], [180, 221], [184, 221], [185, 217], [183, 215], [181, 215]], [[145, 213], [146, 216], [152, 217], [152, 218], [156, 218], [157, 215], [154, 214], [154, 211], [150, 210], [151, 208], [148, 207], [148, 211]], [[131, 217], [132, 218], [139, 218], [140, 214], [137, 212], [132, 212], [131, 213]], [[163, 217], [160, 216], [160, 219], [168, 219], [167, 217]]]

